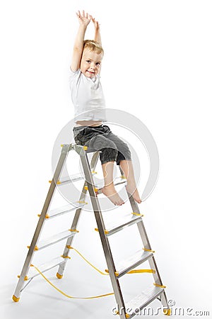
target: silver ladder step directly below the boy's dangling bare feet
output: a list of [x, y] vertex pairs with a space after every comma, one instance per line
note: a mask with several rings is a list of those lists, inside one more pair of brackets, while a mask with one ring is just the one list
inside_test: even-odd
[[122, 230], [125, 227], [128, 227], [130, 225], [134, 225], [135, 223], [139, 223], [141, 220], [141, 216], [136, 215], [125, 215], [122, 219], [116, 220], [115, 223], [110, 223], [110, 225], [107, 225], [107, 230], [105, 230], [105, 234], [107, 236], [110, 236], [114, 233], [119, 232], [119, 230]]

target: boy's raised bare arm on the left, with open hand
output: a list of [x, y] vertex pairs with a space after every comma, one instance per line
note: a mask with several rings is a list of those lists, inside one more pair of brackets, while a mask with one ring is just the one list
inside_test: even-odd
[[88, 13], [85, 13], [85, 11], [82, 11], [82, 13], [78, 11], [76, 16], [78, 17], [79, 27], [76, 40], [73, 45], [73, 55], [71, 59], [71, 70], [73, 72], [76, 72], [80, 67], [81, 56], [83, 53], [83, 40], [86, 34], [87, 26], [92, 18]]

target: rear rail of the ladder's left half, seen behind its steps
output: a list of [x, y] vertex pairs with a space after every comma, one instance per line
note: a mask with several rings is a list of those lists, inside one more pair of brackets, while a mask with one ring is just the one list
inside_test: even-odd
[[[92, 171], [95, 170], [96, 164], [98, 162], [98, 157], [99, 157], [99, 152], [95, 152], [93, 154], [93, 157], [92, 157], [91, 162], [90, 162], [90, 167], [91, 167]], [[79, 198], [79, 201], [85, 201], [85, 199], [86, 199], [87, 190], [85, 189], [85, 186], [87, 186], [86, 181], [83, 184], [83, 189], [81, 191], [81, 196]], [[82, 208], [78, 208], [76, 210], [75, 216], [73, 218], [73, 222], [71, 224], [71, 229], [72, 230], [76, 230], [76, 228], [77, 228], [78, 221], [79, 221], [79, 218], [81, 216], [81, 211], [82, 211]], [[69, 237], [68, 240], [66, 241], [66, 245], [65, 245], [65, 248], [64, 248], [64, 253], [63, 253], [64, 257], [68, 257], [69, 256], [69, 246], [71, 246], [72, 242], [73, 242], [73, 237]], [[65, 259], [65, 260], [67, 262], [67, 259]], [[64, 270], [65, 270], [65, 267], [66, 267], [66, 262], [59, 266], [59, 269], [58, 269], [58, 272], [57, 272], [57, 278], [58, 279], [61, 279], [63, 274], [64, 274]]]

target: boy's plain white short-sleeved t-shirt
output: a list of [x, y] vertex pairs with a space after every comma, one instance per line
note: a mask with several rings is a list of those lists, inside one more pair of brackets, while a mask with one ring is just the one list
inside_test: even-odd
[[93, 79], [86, 77], [80, 69], [70, 69], [69, 84], [76, 121], [107, 121], [105, 98], [99, 74]]

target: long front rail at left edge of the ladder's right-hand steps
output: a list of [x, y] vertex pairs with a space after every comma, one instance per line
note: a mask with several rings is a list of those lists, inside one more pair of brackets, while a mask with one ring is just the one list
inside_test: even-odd
[[108, 242], [107, 236], [105, 235], [105, 224], [104, 224], [104, 220], [102, 218], [100, 203], [99, 203], [98, 198], [95, 194], [95, 189], [94, 189], [94, 184], [93, 184], [93, 176], [90, 172], [90, 165], [88, 162], [88, 157], [87, 157], [87, 154], [84, 150], [80, 153], [80, 157], [81, 157], [81, 162], [83, 164], [83, 171], [84, 171], [86, 181], [88, 184], [88, 192], [90, 194], [90, 199], [91, 199], [93, 211], [95, 214], [95, 220], [96, 220], [96, 223], [98, 225], [98, 230], [100, 233], [100, 240], [102, 242], [102, 248], [103, 248], [104, 253], [105, 253], [105, 259], [107, 262], [107, 267], [109, 270], [110, 279], [112, 282], [112, 287], [114, 290], [114, 296], [115, 296], [116, 301], [117, 301], [119, 316], [121, 319], [126, 319], [124, 298], [122, 296], [122, 291], [121, 291], [121, 288], [119, 286], [119, 280], [115, 276], [114, 261], [112, 258], [112, 252], [110, 250], [110, 244]]

